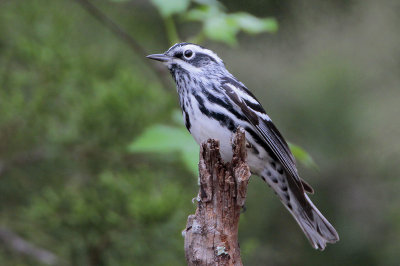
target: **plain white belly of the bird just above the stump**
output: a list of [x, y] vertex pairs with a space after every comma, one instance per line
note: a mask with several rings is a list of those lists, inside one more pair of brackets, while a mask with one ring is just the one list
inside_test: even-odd
[[224, 162], [232, 160], [232, 131], [221, 126], [218, 121], [207, 117], [193, 119], [190, 133], [199, 145], [208, 139], [218, 140], [222, 160]]

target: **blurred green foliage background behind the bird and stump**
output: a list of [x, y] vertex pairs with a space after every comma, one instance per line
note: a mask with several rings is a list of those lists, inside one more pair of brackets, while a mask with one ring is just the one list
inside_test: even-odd
[[[147, 53], [165, 51], [175, 29], [195, 36], [313, 156], [319, 170], [300, 172], [340, 242], [313, 250], [253, 177], [239, 232], [245, 265], [399, 265], [398, 1], [92, 3]], [[181, 127], [172, 79], [83, 7], [0, 0], [0, 265], [185, 265], [191, 162], [179, 149], [128, 148], [154, 125]], [[273, 20], [203, 27], [205, 7], [274, 17], [279, 30], [270, 34]]]

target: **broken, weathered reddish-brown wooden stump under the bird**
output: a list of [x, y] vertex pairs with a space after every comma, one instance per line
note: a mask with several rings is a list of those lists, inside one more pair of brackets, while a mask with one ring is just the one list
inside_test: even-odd
[[200, 147], [198, 207], [184, 231], [188, 265], [243, 265], [238, 227], [250, 169], [242, 128], [232, 148], [232, 161], [223, 163], [218, 141], [210, 139]]

